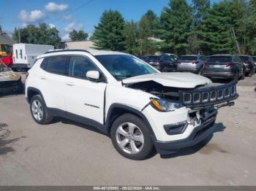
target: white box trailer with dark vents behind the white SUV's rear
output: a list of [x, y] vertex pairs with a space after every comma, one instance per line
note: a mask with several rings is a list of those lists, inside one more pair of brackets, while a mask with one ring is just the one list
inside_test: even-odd
[[13, 44], [13, 68], [30, 69], [38, 55], [42, 55], [48, 50], [53, 50], [51, 45], [43, 44]]

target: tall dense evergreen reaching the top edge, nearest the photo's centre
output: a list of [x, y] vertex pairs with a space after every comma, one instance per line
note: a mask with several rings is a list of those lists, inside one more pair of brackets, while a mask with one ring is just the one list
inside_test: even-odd
[[172, 0], [165, 7], [160, 17], [159, 36], [164, 39], [163, 52], [186, 54], [187, 38], [191, 32], [192, 9], [186, 0]]

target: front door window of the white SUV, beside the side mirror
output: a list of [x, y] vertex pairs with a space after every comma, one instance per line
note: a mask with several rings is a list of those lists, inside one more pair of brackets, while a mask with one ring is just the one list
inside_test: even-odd
[[89, 58], [79, 55], [71, 56], [69, 61], [69, 77], [86, 79], [87, 71], [99, 71], [99, 69]]

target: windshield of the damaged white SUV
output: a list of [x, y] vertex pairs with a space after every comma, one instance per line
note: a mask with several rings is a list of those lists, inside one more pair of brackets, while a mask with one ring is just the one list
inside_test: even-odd
[[151, 66], [132, 55], [96, 55], [95, 58], [117, 80], [157, 73], [156, 69], [152, 69]]

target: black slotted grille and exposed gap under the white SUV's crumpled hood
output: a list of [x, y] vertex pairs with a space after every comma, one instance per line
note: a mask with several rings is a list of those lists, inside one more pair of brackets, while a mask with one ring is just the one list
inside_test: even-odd
[[233, 100], [238, 98], [236, 83], [225, 85], [197, 85], [195, 88], [167, 87], [154, 81], [138, 82], [126, 85], [127, 87], [143, 90], [157, 96], [163, 101], [181, 104], [192, 110], [200, 110], [222, 106], [233, 106]]

